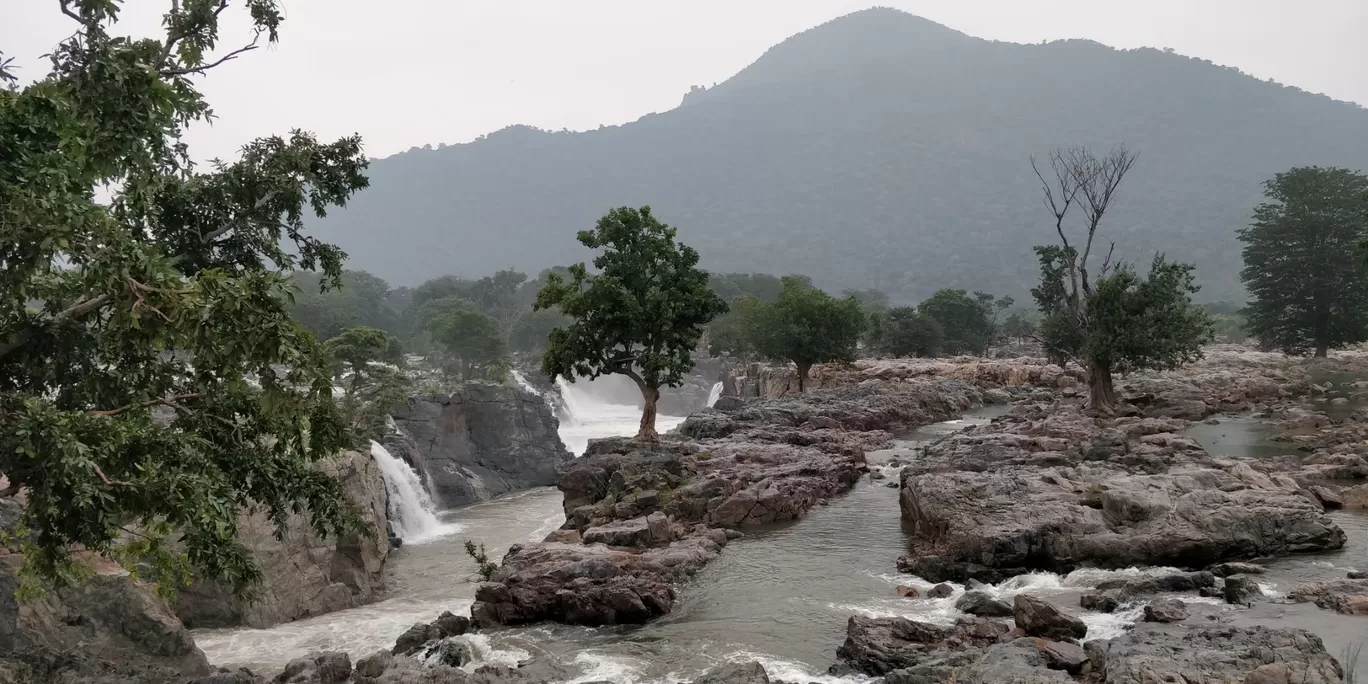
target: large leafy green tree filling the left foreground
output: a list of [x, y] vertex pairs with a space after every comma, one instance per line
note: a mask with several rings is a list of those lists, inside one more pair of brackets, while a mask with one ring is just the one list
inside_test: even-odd
[[[274, 42], [278, 4], [248, 4]], [[25, 492], [19, 543], [41, 577], [79, 573], [82, 547], [248, 594], [261, 573], [241, 506], [360, 531], [312, 466], [349, 435], [283, 274], [339, 283], [345, 254], [304, 216], [365, 187], [361, 142], [295, 131], [197, 172], [182, 131], [209, 107], [193, 77], [248, 49], [218, 48], [219, 3], [172, 4], [159, 38], [111, 34], [108, 0], [62, 10], [75, 34], [45, 78], [19, 86], [0, 66], [0, 494]]]

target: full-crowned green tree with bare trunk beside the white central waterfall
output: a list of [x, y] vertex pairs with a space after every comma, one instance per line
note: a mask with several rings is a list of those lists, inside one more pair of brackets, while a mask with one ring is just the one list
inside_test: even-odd
[[570, 280], [547, 274], [536, 309], [558, 306], [570, 323], [551, 330], [542, 372], [569, 382], [606, 373], [625, 375], [642, 390], [640, 440], [659, 439], [655, 402], [661, 387], [677, 387], [694, 368], [692, 353], [709, 321], [726, 313], [698, 268], [698, 252], [674, 242], [674, 228], [650, 207], [607, 212], [581, 245], [603, 252], [590, 274], [570, 267]]

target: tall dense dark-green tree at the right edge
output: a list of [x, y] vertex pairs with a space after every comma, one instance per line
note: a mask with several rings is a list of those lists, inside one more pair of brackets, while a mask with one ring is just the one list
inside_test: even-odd
[[1368, 175], [1301, 167], [1264, 183], [1267, 202], [1239, 231], [1249, 331], [1289, 354], [1368, 339]]

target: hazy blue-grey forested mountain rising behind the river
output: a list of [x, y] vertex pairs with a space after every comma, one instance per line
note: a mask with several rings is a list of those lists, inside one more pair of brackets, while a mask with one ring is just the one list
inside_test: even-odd
[[[631, 83], [624, 83], [629, 88]], [[397, 285], [583, 259], [575, 231], [651, 204], [715, 271], [912, 300], [1022, 293], [1052, 239], [1029, 156], [1124, 142], [1118, 254], [1196, 261], [1238, 297], [1235, 230], [1293, 166], [1368, 168], [1368, 109], [1155, 49], [1018, 45], [870, 10], [772, 48], [677, 109], [587, 133], [512, 127], [373, 163], [323, 235]]]

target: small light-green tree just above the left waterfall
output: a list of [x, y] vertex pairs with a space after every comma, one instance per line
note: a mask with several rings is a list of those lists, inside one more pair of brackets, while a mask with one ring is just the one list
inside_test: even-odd
[[379, 439], [386, 416], [404, 401], [410, 384], [399, 369], [404, 349], [398, 338], [379, 328], [357, 327], [343, 330], [323, 346], [337, 363], [343, 389], [339, 409], [353, 443]]

